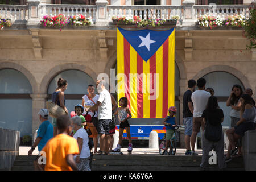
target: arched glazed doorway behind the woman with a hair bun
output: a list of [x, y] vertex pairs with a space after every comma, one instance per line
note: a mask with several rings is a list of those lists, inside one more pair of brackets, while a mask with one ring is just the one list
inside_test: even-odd
[[76, 70], [69, 69], [63, 71], [55, 76], [49, 83], [47, 94], [48, 101], [51, 101], [52, 93], [57, 88], [57, 80], [63, 78], [68, 82], [68, 88], [65, 91], [65, 106], [67, 107], [69, 113], [74, 110], [74, 106], [82, 103], [82, 96], [87, 94], [88, 85], [95, 85], [93, 78], [87, 73]]

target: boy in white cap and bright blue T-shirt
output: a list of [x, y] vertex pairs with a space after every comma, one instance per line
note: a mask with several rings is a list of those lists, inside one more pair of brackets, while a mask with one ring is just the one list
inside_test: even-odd
[[38, 146], [38, 151], [41, 151], [46, 145], [49, 139], [53, 137], [53, 126], [51, 122], [48, 121], [49, 112], [47, 109], [40, 109], [38, 112], [41, 125], [38, 129], [38, 136], [34, 144], [32, 145], [28, 155], [32, 155], [32, 152], [35, 150], [35, 147]]

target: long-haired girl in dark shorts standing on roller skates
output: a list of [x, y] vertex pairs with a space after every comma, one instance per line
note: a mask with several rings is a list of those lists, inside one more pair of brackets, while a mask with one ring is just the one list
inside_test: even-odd
[[[119, 119], [119, 141], [117, 144], [117, 147], [112, 150], [112, 152], [121, 152], [121, 144], [122, 144], [122, 139], [123, 139], [123, 130], [126, 130], [127, 137], [129, 138], [129, 147], [128, 147], [128, 152], [131, 153], [133, 150], [133, 144], [131, 143], [131, 134], [130, 134], [130, 125], [128, 122], [128, 119], [131, 118], [131, 112], [129, 108], [127, 107], [128, 105], [128, 100], [126, 97], [122, 97], [119, 100], [119, 107], [117, 111], [115, 111], [114, 115], [118, 114], [118, 119]], [[128, 116], [129, 115], [129, 116]]]

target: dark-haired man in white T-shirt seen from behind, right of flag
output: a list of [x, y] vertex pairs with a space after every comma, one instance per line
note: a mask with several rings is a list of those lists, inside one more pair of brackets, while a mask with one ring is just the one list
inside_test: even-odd
[[204, 131], [205, 124], [203, 122], [203, 118], [201, 117], [205, 107], [207, 106], [207, 102], [210, 97], [210, 93], [205, 91], [206, 80], [204, 78], [199, 78], [197, 80], [197, 88], [195, 92], [192, 93], [191, 100], [193, 102], [194, 110], [193, 110], [193, 129], [191, 135], [191, 155], [198, 155], [195, 152], [195, 144], [196, 144], [196, 136], [200, 131], [200, 127], [202, 126], [202, 131]]

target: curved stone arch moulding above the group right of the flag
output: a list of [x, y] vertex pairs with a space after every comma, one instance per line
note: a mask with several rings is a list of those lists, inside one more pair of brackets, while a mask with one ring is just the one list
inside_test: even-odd
[[246, 76], [243, 75], [243, 73], [240, 72], [239, 70], [237, 70], [236, 68], [230, 67], [228, 65], [212, 65], [210, 67], [204, 68], [200, 72], [198, 72], [193, 77], [193, 79], [197, 80], [197, 79], [207, 75], [208, 73], [217, 72], [217, 71], [230, 73], [231, 75], [237, 77], [242, 82], [244, 88], [251, 88], [250, 82], [246, 78]]

